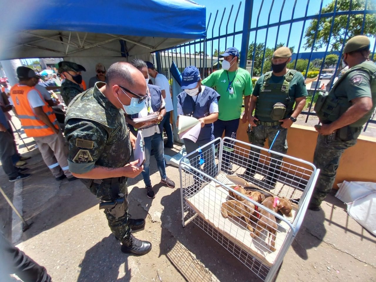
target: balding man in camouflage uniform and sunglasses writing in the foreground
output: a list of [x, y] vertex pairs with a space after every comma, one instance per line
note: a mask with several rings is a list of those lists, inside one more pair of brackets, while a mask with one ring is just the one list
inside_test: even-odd
[[101, 201], [121, 251], [144, 255], [152, 245], [133, 237], [132, 230], [144, 227], [145, 220], [130, 218], [127, 200], [127, 177], [136, 177], [143, 167], [136, 166], [138, 160], [129, 163], [130, 137], [134, 143], [135, 136], [130, 136], [123, 110], [133, 114], [144, 106], [146, 81], [126, 62], [112, 64], [107, 79], [77, 95], [68, 107], [69, 170]]

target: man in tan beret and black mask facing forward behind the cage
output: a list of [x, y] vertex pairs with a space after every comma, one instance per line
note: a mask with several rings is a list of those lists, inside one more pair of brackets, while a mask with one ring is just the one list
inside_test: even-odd
[[[275, 139], [271, 150], [284, 154], [287, 152], [287, 129], [302, 112], [306, 103], [305, 97], [308, 95], [303, 75], [296, 70], [286, 68], [290, 61], [291, 51], [288, 47], [280, 47], [274, 51], [271, 59], [273, 71], [268, 71], [257, 80], [248, 111], [252, 144], [264, 147], [265, 140], [268, 139], [270, 147]], [[261, 150], [254, 147], [251, 150], [252, 161], [247, 167], [247, 176], [260, 172], [258, 161]], [[280, 174], [282, 156], [271, 153], [271, 157], [273, 159], [271, 159], [267, 183], [275, 185]]]

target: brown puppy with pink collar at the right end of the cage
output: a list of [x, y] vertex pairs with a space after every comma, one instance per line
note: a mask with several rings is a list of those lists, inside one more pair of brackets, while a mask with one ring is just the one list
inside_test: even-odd
[[[284, 199], [284, 198], [277, 198], [277, 197], [267, 197], [263, 202], [262, 205], [271, 209], [274, 212], [280, 211], [282, 214], [286, 215], [287, 217], [291, 217], [291, 203]], [[251, 233], [251, 237], [260, 236], [260, 232], [263, 230], [267, 230], [267, 238], [268, 244], [270, 245], [270, 250], [275, 252], [275, 244], [276, 244], [276, 233], [278, 229], [278, 225], [276, 222], [276, 218], [270, 212], [267, 212], [265, 209], [259, 209], [259, 221], [255, 230], [255, 233]]]

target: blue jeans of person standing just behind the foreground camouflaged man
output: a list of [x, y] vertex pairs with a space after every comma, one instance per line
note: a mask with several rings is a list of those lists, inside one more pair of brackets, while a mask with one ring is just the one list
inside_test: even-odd
[[159, 174], [161, 174], [162, 179], [166, 179], [166, 166], [164, 162], [164, 146], [163, 146], [163, 138], [161, 133], [155, 133], [152, 136], [144, 137], [145, 142], [145, 163], [144, 163], [144, 171], [142, 172], [142, 176], [144, 177], [144, 182], [146, 186], [151, 186], [152, 182], [150, 181], [150, 151], [154, 150], [154, 157], [157, 161], [157, 167], [159, 170]]

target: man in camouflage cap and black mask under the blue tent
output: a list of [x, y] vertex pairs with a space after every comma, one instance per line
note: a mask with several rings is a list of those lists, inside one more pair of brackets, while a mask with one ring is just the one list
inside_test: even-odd
[[81, 71], [86, 71], [82, 65], [73, 62], [59, 62], [59, 73], [64, 75], [65, 81], [61, 83], [60, 94], [65, 105], [69, 105], [71, 100], [80, 94], [83, 89], [81, 87], [82, 76]]

